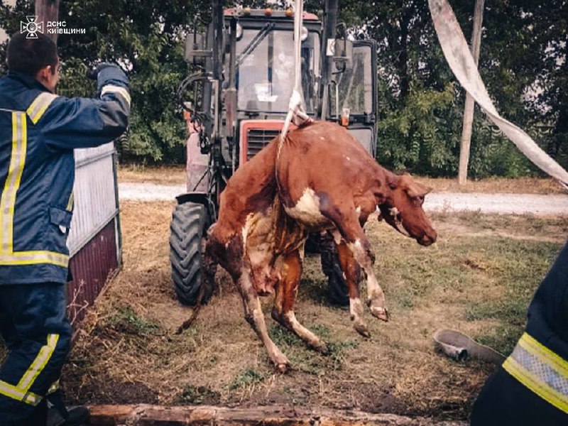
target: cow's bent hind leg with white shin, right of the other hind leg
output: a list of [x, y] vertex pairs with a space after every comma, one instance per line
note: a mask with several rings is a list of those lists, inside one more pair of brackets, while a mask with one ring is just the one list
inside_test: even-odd
[[304, 327], [294, 314], [294, 302], [297, 295], [297, 286], [302, 273], [302, 259], [300, 251], [295, 250], [288, 254], [283, 263], [282, 280], [276, 286], [276, 297], [272, 310], [273, 320], [284, 328], [294, 332], [312, 349], [327, 354], [327, 346], [322, 339]]

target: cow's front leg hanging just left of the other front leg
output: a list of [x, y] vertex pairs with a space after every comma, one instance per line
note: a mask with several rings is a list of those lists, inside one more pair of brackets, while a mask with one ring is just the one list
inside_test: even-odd
[[353, 253], [345, 241], [337, 244], [337, 254], [339, 255], [339, 263], [342, 266], [342, 271], [345, 275], [347, 288], [349, 289], [349, 314], [351, 321], [356, 331], [364, 337], [371, 337], [368, 332], [367, 324], [363, 320], [363, 304], [361, 303], [361, 296], [359, 292], [359, 279], [361, 277], [361, 268], [355, 261]]

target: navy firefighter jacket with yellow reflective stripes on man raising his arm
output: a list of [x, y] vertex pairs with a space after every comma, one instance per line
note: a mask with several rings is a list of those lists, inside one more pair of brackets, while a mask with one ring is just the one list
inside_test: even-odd
[[104, 67], [98, 88], [100, 99], [65, 98], [19, 72], [0, 80], [0, 285], [66, 281], [73, 149], [128, 125], [124, 72]]

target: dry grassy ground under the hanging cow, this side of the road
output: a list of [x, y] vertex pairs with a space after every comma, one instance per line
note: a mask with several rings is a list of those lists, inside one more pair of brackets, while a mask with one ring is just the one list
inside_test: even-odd
[[[494, 366], [436, 354], [432, 333], [459, 329], [503, 353], [523, 331], [528, 302], [568, 233], [568, 218], [437, 214], [439, 241], [418, 246], [371, 219], [391, 322], [366, 312], [372, 337], [327, 302], [317, 255], [308, 255], [297, 317], [329, 356], [310, 351], [266, 315], [294, 369], [277, 374], [244, 320], [239, 295], [219, 271], [219, 290], [197, 321], [170, 282], [173, 203], [123, 202], [124, 267], [80, 328], [62, 383], [71, 402], [317, 405], [370, 413], [464, 420]], [[263, 300], [266, 313], [271, 299]]]

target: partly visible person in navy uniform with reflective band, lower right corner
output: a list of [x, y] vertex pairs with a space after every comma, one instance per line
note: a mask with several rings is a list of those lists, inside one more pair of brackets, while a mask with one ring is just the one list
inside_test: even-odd
[[528, 309], [525, 333], [485, 383], [471, 426], [568, 425], [568, 243]]

